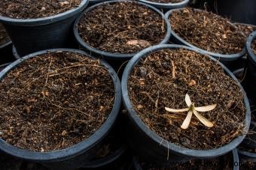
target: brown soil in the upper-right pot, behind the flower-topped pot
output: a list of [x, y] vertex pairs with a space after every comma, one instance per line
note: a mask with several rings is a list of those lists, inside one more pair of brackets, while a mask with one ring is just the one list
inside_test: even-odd
[[239, 28], [214, 13], [184, 8], [169, 16], [172, 30], [194, 46], [209, 52], [235, 54], [245, 47]]

